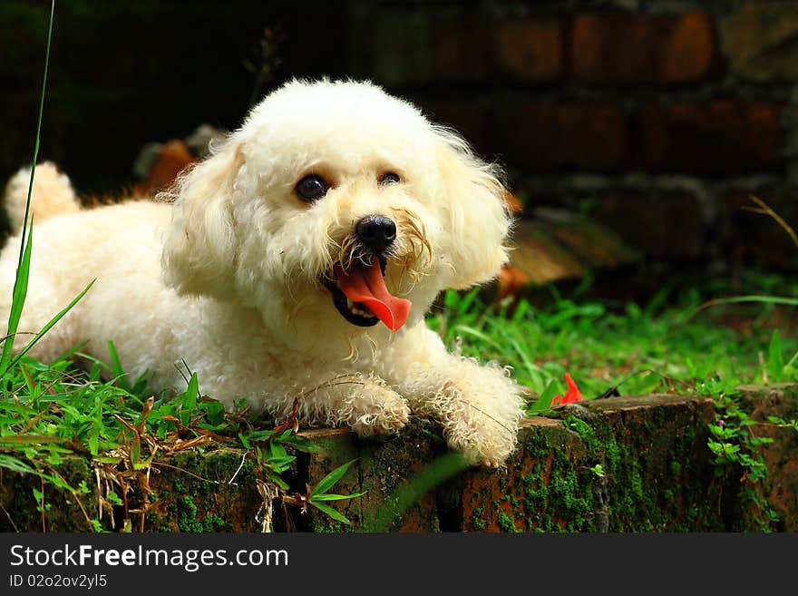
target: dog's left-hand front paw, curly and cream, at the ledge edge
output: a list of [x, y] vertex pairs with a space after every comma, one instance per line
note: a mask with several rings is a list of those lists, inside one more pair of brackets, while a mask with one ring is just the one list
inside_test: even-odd
[[404, 397], [375, 383], [365, 383], [346, 404], [346, 422], [360, 436], [394, 433], [410, 419], [410, 406]]

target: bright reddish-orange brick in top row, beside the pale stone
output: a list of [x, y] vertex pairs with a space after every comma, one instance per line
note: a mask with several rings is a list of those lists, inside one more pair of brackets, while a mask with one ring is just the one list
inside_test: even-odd
[[572, 26], [572, 75], [589, 83], [695, 83], [713, 73], [706, 13], [589, 13]]

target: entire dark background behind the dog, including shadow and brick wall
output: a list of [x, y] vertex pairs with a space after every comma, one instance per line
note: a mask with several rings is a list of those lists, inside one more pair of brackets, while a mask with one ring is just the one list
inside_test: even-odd
[[[49, 7], [0, 4], [3, 180], [33, 154]], [[798, 226], [793, 2], [60, 0], [40, 157], [117, 194], [146, 143], [229, 130], [321, 75], [420, 104], [507, 167], [526, 218], [585, 214], [648, 276], [796, 270], [789, 236], [741, 210], [755, 193]]]

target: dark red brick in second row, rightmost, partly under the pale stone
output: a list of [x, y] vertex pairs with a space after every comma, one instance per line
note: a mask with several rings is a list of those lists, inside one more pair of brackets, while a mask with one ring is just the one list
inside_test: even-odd
[[781, 112], [741, 100], [649, 107], [638, 122], [642, 165], [711, 176], [781, 171]]

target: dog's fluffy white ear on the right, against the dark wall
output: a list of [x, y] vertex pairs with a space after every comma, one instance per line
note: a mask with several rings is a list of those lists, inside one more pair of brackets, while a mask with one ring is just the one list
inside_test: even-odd
[[450, 286], [469, 288], [495, 278], [507, 262], [504, 242], [511, 227], [507, 191], [498, 167], [476, 157], [456, 133], [443, 128], [436, 132], [438, 168], [446, 194], [441, 207], [453, 266]]

